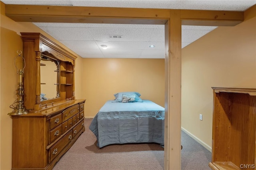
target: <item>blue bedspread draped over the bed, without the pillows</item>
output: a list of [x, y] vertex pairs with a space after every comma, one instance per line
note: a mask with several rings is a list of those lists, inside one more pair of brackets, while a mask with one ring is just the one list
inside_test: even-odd
[[123, 143], [164, 144], [164, 107], [143, 102], [107, 101], [90, 124], [98, 147]]

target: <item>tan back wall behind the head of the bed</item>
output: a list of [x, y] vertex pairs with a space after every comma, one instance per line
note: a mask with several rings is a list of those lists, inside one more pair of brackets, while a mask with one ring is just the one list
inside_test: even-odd
[[136, 91], [164, 107], [164, 59], [83, 59], [82, 84], [86, 117], [118, 92]]

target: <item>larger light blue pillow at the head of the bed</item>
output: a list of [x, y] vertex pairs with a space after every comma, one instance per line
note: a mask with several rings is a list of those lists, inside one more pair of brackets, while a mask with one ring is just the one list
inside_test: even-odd
[[[130, 102], [143, 102], [143, 100], [139, 97], [140, 94], [138, 92], [120, 92], [120, 93], [116, 93], [114, 94], [114, 96], [116, 97], [115, 101], [116, 102], [122, 102], [123, 101], [123, 96], [125, 98], [130, 98]], [[126, 101], [128, 99], [124, 99], [124, 101]], [[124, 102], [123, 102], [124, 103]]]

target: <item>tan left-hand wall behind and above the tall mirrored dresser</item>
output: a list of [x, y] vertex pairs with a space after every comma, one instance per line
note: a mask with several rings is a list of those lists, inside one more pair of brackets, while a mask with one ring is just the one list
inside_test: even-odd
[[[20, 32], [41, 32], [60, 46], [64, 47], [64, 45], [39, 29], [33, 23], [15, 22], [6, 17], [4, 15], [4, 4], [2, 2], [0, 3], [0, 169], [10, 170], [12, 166], [12, 119], [7, 114], [13, 111], [9, 106], [17, 99], [16, 90], [18, 88], [17, 83], [19, 80], [14, 66], [14, 57], [18, 55], [16, 53], [17, 50], [22, 50]], [[69, 49], [67, 50], [70, 51]], [[81, 63], [82, 59], [79, 56], [77, 57], [77, 60]], [[82, 72], [82, 65], [80, 63], [78, 62], [78, 65], [76, 66], [76, 72]], [[81, 74], [78, 74], [78, 78], [79, 77], [80, 80], [76, 80], [75, 82], [77, 83], [76, 89], [78, 90], [82, 89], [80, 87], [82, 84]], [[82, 94], [76, 92], [76, 98], [82, 98]], [[14, 130], [18, 131], [18, 129]]]

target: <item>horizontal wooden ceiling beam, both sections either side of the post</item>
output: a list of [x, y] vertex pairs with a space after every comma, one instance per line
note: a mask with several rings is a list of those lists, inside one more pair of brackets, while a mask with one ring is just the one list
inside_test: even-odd
[[[170, 9], [82, 6], [5, 5], [5, 14], [20, 22], [165, 24]], [[182, 25], [234, 26], [244, 12], [180, 10]]]

